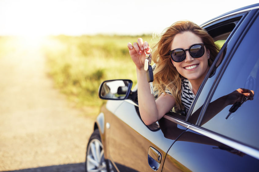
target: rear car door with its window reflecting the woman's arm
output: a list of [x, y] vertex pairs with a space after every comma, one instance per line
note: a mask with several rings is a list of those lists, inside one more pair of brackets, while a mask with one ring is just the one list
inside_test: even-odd
[[[259, 13], [254, 8], [238, 15], [239, 22], [213, 63], [220, 65], [211, 78], [206, 76], [186, 122], [165, 116], [188, 129], [168, 151], [163, 171], [258, 171]], [[253, 90], [253, 100], [227, 118], [232, 106], [229, 97], [239, 88]]]

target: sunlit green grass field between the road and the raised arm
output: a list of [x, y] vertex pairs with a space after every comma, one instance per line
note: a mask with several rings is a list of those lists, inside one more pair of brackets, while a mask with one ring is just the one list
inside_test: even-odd
[[128, 42], [138, 37], [151, 45], [152, 35], [142, 36], [56, 36], [45, 44], [49, 75], [55, 86], [78, 107], [99, 108], [103, 100], [98, 87], [108, 79], [131, 79], [137, 83], [135, 65], [128, 54]]

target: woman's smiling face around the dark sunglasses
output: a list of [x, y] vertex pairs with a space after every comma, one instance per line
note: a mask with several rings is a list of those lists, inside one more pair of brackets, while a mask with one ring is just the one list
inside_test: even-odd
[[[203, 43], [202, 39], [195, 35], [192, 32], [183, 32], [175, 35], [172, 40], [171, 50], [176, 48], [189, 49], [191, 45]], [[204, 46], [205, 53], [202, 57], [193, 58], [189, 54], [189, 51], [186, 51], [186, 58], [181, 62], [175, 62], [172, 59], [173, 65], [176, 67], [176, 70], [180, 75], [187, 78], [188, 80], [204, 79], [205, 75], [209, 70], [208, 66], [208, 57], [209, 50]]]

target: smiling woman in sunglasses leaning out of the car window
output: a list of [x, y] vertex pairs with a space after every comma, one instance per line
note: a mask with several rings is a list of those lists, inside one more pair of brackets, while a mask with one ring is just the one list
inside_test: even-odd
[[161, 36], [152, 55], [156, 63], [154, 92], [144, 70], [145, 52], [149, 44], [141, 38], [133, 45], [128, 43], [129, 54], [136, 65], [139, 112], [146, 125], [161, 119], [174, 107], [187, 112], [213, 63], [219, 47], [213, 38], [195, 23], [180, 21], [172, 24]]

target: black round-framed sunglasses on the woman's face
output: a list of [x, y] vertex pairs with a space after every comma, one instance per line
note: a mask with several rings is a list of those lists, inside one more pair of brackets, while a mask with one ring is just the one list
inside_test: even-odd
[[189, 49], [182, 49], [182, 48], [176, 48], [174, 50], [169, 51], [169, 54], [173, 61], [175, 62], [181, 62], [186, 58], [186, 52], [189, 51], [191, 57], [199, 58], [202, 57], [204, 54], [204, 44], [193, 44]]

